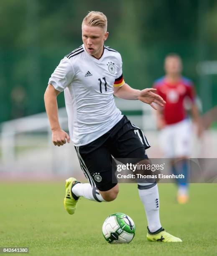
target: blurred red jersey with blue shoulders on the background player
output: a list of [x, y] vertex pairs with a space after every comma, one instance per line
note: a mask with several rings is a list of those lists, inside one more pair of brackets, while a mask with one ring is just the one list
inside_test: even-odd
[[168, 83], [165, 77], [158, 79], [154, 85], [156, 93], [166, 101], [163, 116], [166, 124], [178, 123], [186, 118], [184, 99], [189, 97], [194, 102], [194, 85], [184, 77], [176, 83]]

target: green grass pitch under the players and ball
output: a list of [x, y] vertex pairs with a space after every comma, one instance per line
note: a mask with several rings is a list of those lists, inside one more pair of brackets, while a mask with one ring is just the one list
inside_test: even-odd
[[[147, 221], [136, 184], [121, 184], [117, 199], [97, 203], [82, 198], [69, 215], [64, 182], [0, 183], [0, 246], [29, 247], [30, 255], [217, 255], [217, 184], [192, 184], [190, 202], [178, 205], [174, 184], [160, 184], [161, 224], [183, 243], [146, 240]], [[102, 223], [114, 212], [134, 220], [135, 238], [111, 245]]]

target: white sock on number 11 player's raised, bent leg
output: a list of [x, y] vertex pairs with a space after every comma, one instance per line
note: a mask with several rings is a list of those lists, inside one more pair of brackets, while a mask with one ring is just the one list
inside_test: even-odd
[[91, 187], [89, 183], [77, 183], [72, 187], [71, 191], [77, 197], [85, 197], [96, 202], [107, 202], [102, 198], [99, 190], [96, 187]]

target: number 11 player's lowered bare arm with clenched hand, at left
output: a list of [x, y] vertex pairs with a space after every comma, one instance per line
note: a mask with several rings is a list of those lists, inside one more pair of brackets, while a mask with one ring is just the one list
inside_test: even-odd
[[58, 119], [58, 107], [56, 97], [60, 94], [58, 90], [56, 90], [52, 84], [49, 84], [45, 94], [44, 94], [44, 102], [46, 112], [49, 118], [51, 131], [52, 131], [52, 141], [55, 146], [63, 146], [67, 142], [70, 142], [69, 135], [61, 130], [59, 119]]

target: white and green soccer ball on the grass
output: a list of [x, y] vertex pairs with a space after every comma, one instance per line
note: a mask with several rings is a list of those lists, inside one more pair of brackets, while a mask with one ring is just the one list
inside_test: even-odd
[[108, 243], [130, 243], [135, 236], [135, 224], [124, 213], [114, 213], [104, 221], [102, 233]]

